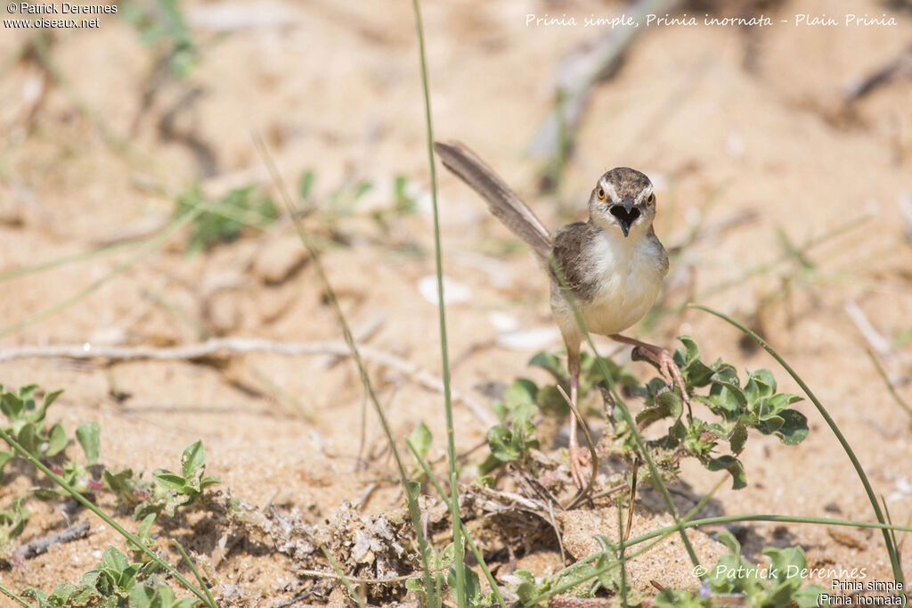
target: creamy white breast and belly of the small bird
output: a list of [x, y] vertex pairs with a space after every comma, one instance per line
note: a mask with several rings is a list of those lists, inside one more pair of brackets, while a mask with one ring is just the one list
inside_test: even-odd
[[619, 333], [642, 319], [656, 301], [665, 276], [664, 251], [655, 236], [622, 238], [603, 231], [594, 254], [600, 289], [581, 312], [589, 330]]

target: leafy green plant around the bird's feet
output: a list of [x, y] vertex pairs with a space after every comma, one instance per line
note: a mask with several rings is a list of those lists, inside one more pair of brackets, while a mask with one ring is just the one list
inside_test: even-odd
[[[670, 388], [665, 379], [655, 377], [647, 383], [639, 383], [623, 366], [586, 353], [581, 360], [580, 403], [586, 403], [587, 395], [596, 393], [596, 387], [603, 383], [599, 368], [604, 366], [615, 386], [643, 400], [643, 408], [635, 418], [638, 430], [661, 420], [670, 421], [665, 435], [646, 444], [654, 452], [664, 477], [677, 477], [681, 458], [690, 456], [711, 471], [727, 470], [732, 477], [732, 487], [745, 487], [747, 478], [738, 456], [744, 449], [749, 431], [776, 435], [786, 445], [801, 443], [807, 436], [807, 419], [790, 407], [801, 398], [778, 393], [776, 380], [768, 370], [749, 372], [742, 386], [731, 363], [717, 359], [708, 365], [700, 359], [696, 341], [689, 336], [681, 336], [679, 340], [682, 346], [675, 351], [674, 359], [689, 396], [692, 401], [705, 404], [710, 413], [718, 416], [717, 420], [704, 421], [691, 414], [684, 415], [680, 394], [677, 389]], [[637, 359], [636, 354], [634, 358]], [[557, 383], [567, 382], [563, 365], [555, 354], [540, 352], [530, 364], [550, 372]], [[698, 389], [702, 394], [698, 394]], [[488, 432], [491, 454], [479, 466], [482, 475], [503, 463], [522, 461], [530, 448], [538, 447], [534, 415], [540, 410], [563, 413], [566, 405], [556, 385], [540, 387], [531, 380], [519, 378], [503, 393], [503, 399], [492, 404], [492, 410], [501, 424]], [[609, 407], [608, 414], [616, 448], [622, 454], [636, 453], [635, 437], [617, 408]], [[729, 453], [720, 453], [722, 443], [728, 444]], [[650, 479], [648, 474], [645, 478]]]

